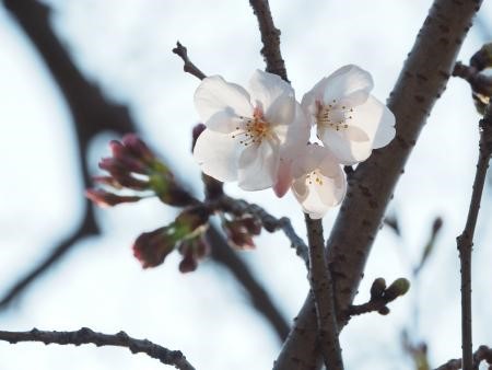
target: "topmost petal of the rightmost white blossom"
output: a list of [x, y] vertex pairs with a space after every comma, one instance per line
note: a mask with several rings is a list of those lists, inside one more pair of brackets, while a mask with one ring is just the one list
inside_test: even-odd
[[365, 102], [374, 83], [371, 74], [362, 68], [349, 65], [331, 73], [325, 81], [324, 102], [359, 105]]

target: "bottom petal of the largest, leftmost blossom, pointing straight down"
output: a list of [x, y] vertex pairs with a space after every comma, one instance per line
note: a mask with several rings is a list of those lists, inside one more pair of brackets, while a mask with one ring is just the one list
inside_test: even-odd
[[279, 150], [268, 140], [244, 149], [238, 162], [238, 185], [244, 190], [262, 190], [276, 182]]

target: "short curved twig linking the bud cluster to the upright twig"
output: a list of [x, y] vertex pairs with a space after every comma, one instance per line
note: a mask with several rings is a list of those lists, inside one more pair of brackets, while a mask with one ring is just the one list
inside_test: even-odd
[[256, 217], [268, 232], [282, 230], [285, 236], [291, 241], [291, 246], [295, 248], [296, 254], [304, 261], [306, 267], [309, 268], [308, 247], [302, 238], [295, 233], [289, 218], [282, 217], [278, 219], [258, 205], [227, 196], [218, 199], [218, 203], [213, 207], [237, 216], [249, 213]]

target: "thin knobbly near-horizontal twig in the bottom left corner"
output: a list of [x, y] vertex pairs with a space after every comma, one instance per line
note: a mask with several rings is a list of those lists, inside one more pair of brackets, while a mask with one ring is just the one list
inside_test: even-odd
[[153, 344], [147, 339], [136, 339], [125, 332], [117, 334], [96, 333], [87, 327], [77, 332], [46, 332], [33, 328], [30, 332], [0, 331], [0, 340], [16, 344], [19, 342], [43, 342], [45, 345], [74, 345], [94, 344], [101, 346], [116, 346], [128, 348], [132, 354], [143, 352], [162, 363], [174, 366], [179, 370], [195, 370], [179, 350], [171, 350]]

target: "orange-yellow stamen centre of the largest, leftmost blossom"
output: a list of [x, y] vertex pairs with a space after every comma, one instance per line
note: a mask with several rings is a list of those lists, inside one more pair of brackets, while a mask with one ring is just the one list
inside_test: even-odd
[[272, 139], [274, 134], [272, 132], [271, 125], [265, 120], [260, 109], [255, 108], [253, 118], [239, 117], [243, 119], [243, 125], [237, 126], [236, 130], [232, 134], [233, 139], [239, 139], [239, 143], [247, 147], [254, 143], [261, 143], [263, 139]]

